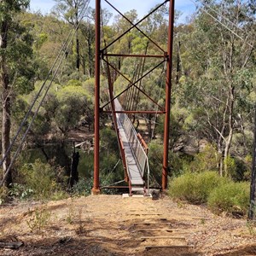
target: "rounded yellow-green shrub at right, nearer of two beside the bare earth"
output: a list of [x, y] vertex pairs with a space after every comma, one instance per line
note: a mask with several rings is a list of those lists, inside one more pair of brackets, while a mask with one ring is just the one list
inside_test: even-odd
[[249, 183], [223, 183], [214, 189], [207, 205], [212, 212], [227, 212], [233, 216], [247, 213], [250, 195]]

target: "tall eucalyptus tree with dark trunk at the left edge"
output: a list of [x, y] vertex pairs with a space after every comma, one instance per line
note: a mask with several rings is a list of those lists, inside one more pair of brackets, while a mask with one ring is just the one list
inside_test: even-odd
[[[0, 88], [2, 102], [3, 175], [10, 164], [11, 107], [17, 93], [28, 93], [33, 88], [32, 37], [19, 20], [19, 13], [28, 6], [27, 0], [0, 2]], [[12, 182], [11, 172], [5, 184]]]

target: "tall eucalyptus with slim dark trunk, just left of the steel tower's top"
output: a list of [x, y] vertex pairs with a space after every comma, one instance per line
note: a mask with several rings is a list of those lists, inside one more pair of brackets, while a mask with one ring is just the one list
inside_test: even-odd
[[80, 47], [79, 47], [79, 20], [85, 16], [85, 10], [90, 0], [55, 0], [54, 13], [67, 20], [76, 29], [76, 67], [80, 68]]

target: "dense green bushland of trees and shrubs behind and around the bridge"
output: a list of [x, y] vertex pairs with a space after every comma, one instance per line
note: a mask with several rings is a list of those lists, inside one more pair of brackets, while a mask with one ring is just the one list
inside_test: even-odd
[[[1, 137], [2, 143], [5, 142], [4, 147], [2, 146], [3, 153], [8, 148], [6, 146], [9, 141], [15, 136], [20, 121], [44, 79], [47, 78], [55, 56], [72, 29], [72, 24], [67, 20], [76, 22], [75, 14], [79, 11], [70, 5], [70, 1], [61, 1], [64, 5], [55, 6], [52, 14], [31, 14], [26, 12], [29, 1], [9, 1], [9, 5], [3, 5], [7, 2], [0, 3], [0, 15], [3, 18], [0, 20], [0, 27], [9, 28], [9, 31], [0, 33], [8, 35], [6, 44], [0, 45], [2, 106], [7, 106], [3, 104], [6, 100], [9, 102], [8, 113], [3, 108], [1, 116], [9, 117], [10, 121], [7, 123], [2, 119], [2, 126], [8, 124], [6, 131], [9, 131], [9, 137], [4, 135], [6, 133]], [[242, 192], [246, 191], [242, 190], [242, 186], [246, 185], [233, 183], [232, 180], [248, 181], [251, 174], [252, 109], [256, 99], [253, 38], [255, 9], [251, 0], [239, 4], [236, 1], [212, 1], [208, 6], [214, 11], [202, 4], [193, 19], [185, 24], [175, 25], [169, 158], [169, 174], [172, 177], [170, 193], [176, 198], [196, 204], [207, 203], [214, 212], [237, 212], [237, 209], [241, 208], [239, 214], [244, 214], [247, 192]], [[221, 26], [207, 15], [206, 9], [216, 19], [221, 16], [218, 13], [226, 16], [234, 25], [231, 31], [226, 29], [230, 27], [229, 21], [221, 20], [224, 23], [224, 26]], [[105, 25], [102, 34], [107, 44], [131, 27], [131, 24], [119, 15], [114, 18], [115, 22], [110, 24], [112, 14], [108, 10], [102, 12]], [[140, 24], [140, 28], [163, 49], [166, 49], [167, 44], [166, 13], [167, 7], [163, 6], [153, 17], [148, 17]], [[94, 128], [93, 15], [94, 10], [88, 9], [76, 31], [75, 39], [64, 53], [63, 63], [56, 71], [55, 78], [54, 72], [49, 73], [47, 83], [51, 79], [53, 83], [34, 124], [29, 129], [25, 146], [22, 148], [23, 153], [13, 167], [12, 189], [0, 189], [2, 201], [6, 200], [8, 195], [22, 199], [39, 199], [47, 198], [49, 195], [61, 196], [61, 191], [66, 193], [67, 190], [69, 193], [90, 193], [93, 154], [90, 150], [79, 149], [80, 179], [71, 191], [67, 188], [67, 179], [73, 148], [67, 144], [73, 143], [70, 142], [70, 131], [84, 128], [84, 132], [90, 133]], [[131, 21], [138, 20], [135, 9], [126, 15]], [[65, 17], [66, 21], [61, 17]], [[8, 22], [9, 26], [2, 26], [3, 21]], [[239, 37], [232, 32], [236, 29], [235, 25], [239, 27]], [[3, 43], [3, 40], [0, 42]], [[150, 55], [160, 54], [142, 33], [132, 29], [109, 47], [108, 52], [144, 54], [145, 47]], [[135, 78], [134, 70], [140, 70], [141, 60], [109, 59], [127, 78]], [[153, 68], [156, 63], [155, 58], [147, 59], [143, 73]], [[145, 76], [139, 84], [148, 96], [161, 106], [165, 103], [165, 68], [163, 64], [154, 69], [154, 72]], [[117, 95], [125, 90], [129, 83], [112, 69], [110, 73], [114, 94]], [[9, 78], [9, 84], [8, 79], [3, 81], [6, 77]], [[109, 101], [106, 67], [102, 68], [101, 84], [101, 103], [105, 104]], [[40, 96], [39, 100], [42, 97]], [[140, 110], [159, 110], [143, 94], [137, 95], [136, 106]], [[126, 104], [126, 107], [129, 106]], [[32, 114], [23, 130], [26, 130], [32, 120]], [[149, 144], [151, 184], [159, 185], [164, 119], [154, 113], [144, 113], [132, 116], [131, 120]], [[101, 182], [106, 185], [123, 179], [121, 163], [116, 166], [119, 161], [119, 148], [113, 128], [110, 128], [111, 123], [111, 114], [102, 113], [100, 166]], [[20, 139], [15, 143], [15, 147], [20, 143]], [[57, 147], [48, 150], [48, 144]], [[30, 149], [35, 149], [37, 153], [26, 157], [26, 154], [30, 154]], [[38, 158], [40, 160], [36, 160]], [[0, 171], [1, 176], [5, 171]], [[39, 187], [38, 181], [41, 179], [45, 180], [45, 188]], [[230, 194], [229, 203], [221, 197], [222, 193], [215, 190], [216, 188], [226, 189], [225, 191]], [[243, 199], [236, 196], [236, 191], [241, 192]], [[221, 201], [225, 202], [225, 206]]]

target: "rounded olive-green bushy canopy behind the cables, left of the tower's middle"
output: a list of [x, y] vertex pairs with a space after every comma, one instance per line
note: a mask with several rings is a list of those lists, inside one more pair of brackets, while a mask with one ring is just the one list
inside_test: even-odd
[[[41, 84], [38, 82], [30, 95], [20, 96], [15, 103], [13, 108], [17, 122], [23, 118], [26, 113], [24, 108], [28, 108], [29, 102], [33, 100]], [[49, 81], [46, 84], [49, 84]], [[37, 137], [44, 136], [49, 131], [59, 131], [59, 134], [67, 136], [68, 131], [79, 126], [84, 120], [87, 125], [92, 125], [93, 106], [91, 96], [84, 90], [81, 83], [78, 80], [69, 80], [64, 87], [53, 83], [32, 125], [32, 134]]]

